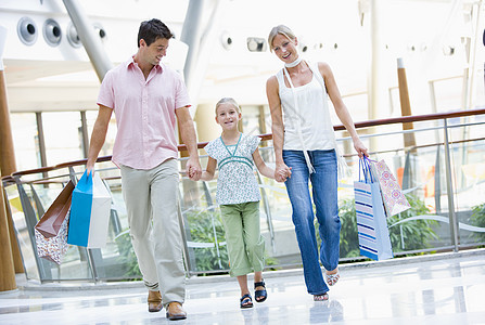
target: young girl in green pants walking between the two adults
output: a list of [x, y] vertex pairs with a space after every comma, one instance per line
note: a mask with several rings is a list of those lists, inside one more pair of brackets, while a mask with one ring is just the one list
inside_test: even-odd
[[226, 230], [230, 275], [238, 278], [241, 288], [240, 307], [252, 308], [247, 273], [254, 271], [255, 300], [263, 302], [267, 298], [261, 273], [265, 266], [265, 240], [259, 231], [261, 197], [253, 162], [267, 178], [275, 179], [275, 171], [259, 155], [260, 139], [238, 130], [240, 120], [241, 109], [233, 99], [221, 99], [216, 104], [216, 122], [222, 128], [222, 134], [205, 146], [209, 157], [201, 180], [212, 180], [217, 165], [216, 200]]

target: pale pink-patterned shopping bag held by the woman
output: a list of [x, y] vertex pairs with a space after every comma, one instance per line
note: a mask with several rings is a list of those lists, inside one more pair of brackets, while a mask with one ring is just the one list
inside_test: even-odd
[[387, 218], [409, 209], [411, 206], [384, 159], [381, 161], [371, 160], [370, 166], [379, 180]]

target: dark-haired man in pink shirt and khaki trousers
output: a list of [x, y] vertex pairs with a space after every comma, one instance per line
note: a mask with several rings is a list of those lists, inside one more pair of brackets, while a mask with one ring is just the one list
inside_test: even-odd
[[149, 311], [165, 307], [167, 318], [183, 320], [176, 119], [190, 155], [186, 167], [190, 179], [197, 181], [202, 170], [186, 86], [179, 74], [161, 64], [171, 37], [161, 21], [142, 22], [138, 52], [104, 77], [86, 167], [88, 172], [93, 169], [114, 110], [117, 134], [112, 159], [122, 171], [131, 244], [149, 289]]

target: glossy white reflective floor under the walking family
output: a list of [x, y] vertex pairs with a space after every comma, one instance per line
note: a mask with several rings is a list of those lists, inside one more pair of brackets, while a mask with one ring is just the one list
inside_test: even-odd
[[140, 283], [44, 284], [0, 292], [0, 324], [485, 324], [485, 249], [341, 266], [314, 302], [302, 270], [265, 275], [268, 300], [239, 308], [235, 280], [188, 282], [186, 321], [146, 311]]

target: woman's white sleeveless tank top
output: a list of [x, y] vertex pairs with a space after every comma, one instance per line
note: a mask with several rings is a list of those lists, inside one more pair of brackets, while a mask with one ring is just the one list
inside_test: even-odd
[[[311, 81], [307, 84], [295, 87], [298, 112], [294, 107], [293, 91], [284, 84], [283, 69], [277, 74], [279, 95], [283, 107], [284, 143], [283, 150], [317, 151], [332, 150], [335, 147], [335, 134], [330, 119], [327, 90], [322, 84], [324, 80], [319, 73], [317, 64], [308, 63], [312, 72]], [[321, 83], [316, 79], [320, 78]], [[304, 148], [298, 138], [298, 126], [303, 135]]]

